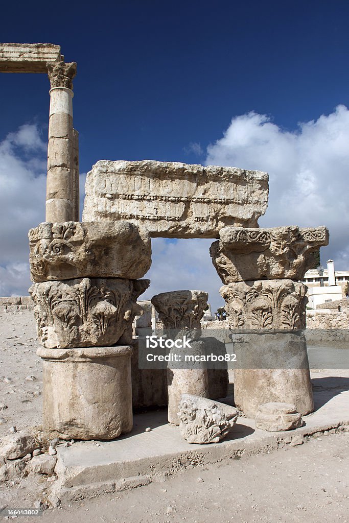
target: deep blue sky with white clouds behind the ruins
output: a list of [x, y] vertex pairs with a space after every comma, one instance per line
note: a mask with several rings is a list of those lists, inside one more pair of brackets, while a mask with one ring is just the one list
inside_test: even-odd
[[[334, 257], [337, 268], [349, 268], [349, 238], [334, 219], [336, 210], [341, 222], [347, 212], [348, 15], [344, 1], [6, 3], [0, 39], [58, 43], [65, 60], [77, 62], [73, 103], [81, 173], [97, 160], [144, 158], [236, 162], [268, 170], [270, 206], [260, 224], [330, 222], [333, 242], [324, 257]], [[24, 170], [17, 192], [36, 186], [28, 182], [33, 177], [44, 185], [48, 91], [45, 75], [0, 75], [0, 143], [9, 155], [3, 187], [6, 176], [13, 179], [19, 168]], [[334, 185], [333, 194], [328, 195], [327, 181]], [[35, 191], [40, 194], [39, 188]], [[11, 193], [6, 186], [5, 193], [3, 212], [13, 195], [11, 212], [18, 223], [16, 239], [6, 240], [2, 221], [7, 252], [0, 253], [0, 294], [22, 292], [27, 285], [27, 246], [20, 246], [26, 242], [25, 228], [44, 219], [44, 196], [41, 206], [38, 197], [35, 208], [29, 203], [19, 208], [15, 188]], [[156, 242], [154, 264], [159, 267], [168, 247]], [[198, 253], [207, 252], [207, 246], [186, 245], [186, 274], [196, 274]], [[23, 264], [17, 287], [16, 273], [11, 280], [6, 272], [16, 263]], [[199, 271], [204, 279], [197, 285], [212, 278], [212, 289], [218, 288], [209, 270]], [[173, 277], [178, 285], [175, 269]], [[186, 278], [180, 281], [187, 284]], [[159, 287], [161, 281], [153, 293], [166, 290]]]

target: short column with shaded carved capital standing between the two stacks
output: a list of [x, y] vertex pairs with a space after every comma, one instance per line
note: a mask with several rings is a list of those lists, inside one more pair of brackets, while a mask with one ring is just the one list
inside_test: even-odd
[[[204, 291], [173, 291], [157, 294], [151, 300], [159, 319], [163, 322], [168, 338], [183, 338], [186, 335], [193, 341], [192, 349], [173, 349], [181, 354], [182, 363], [185, 354], [205, 354], [205, 344], [198, 341], [201, 334], [200, 320], [204, 315], [208, 294]], [[197, 341], [196, 341], [197, 340]], [[188, 368], [190, 366], [190, 368]], [[187, 368], [185, 368], [187, 367]], [[208, 374], [204, 365], [184, 364], [181, 368], [173, 363], [167, 368], [168, 422], [179, 425], [177, 415], [182, 394], [194, 394], [209, 397]]]

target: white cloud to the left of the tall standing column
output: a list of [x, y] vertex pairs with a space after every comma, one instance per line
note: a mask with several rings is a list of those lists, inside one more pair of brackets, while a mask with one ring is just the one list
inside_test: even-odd
[[44, 220], [46, 149], [25, 124], [0, 143], [0, 294], [27, 294], [28, 230]]

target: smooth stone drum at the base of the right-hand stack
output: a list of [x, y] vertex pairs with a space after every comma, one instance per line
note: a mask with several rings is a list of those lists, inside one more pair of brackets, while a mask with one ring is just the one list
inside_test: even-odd
[[233, 334], [235, 405], [255, 418], [263, 403], [296, 406], [302, 416], [313, 411], [307, 344], [303, 332]]

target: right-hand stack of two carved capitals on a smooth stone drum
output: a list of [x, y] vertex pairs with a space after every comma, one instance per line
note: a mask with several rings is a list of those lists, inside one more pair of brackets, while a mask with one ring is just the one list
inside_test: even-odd
[[211, 245], [237, 354], [234, 400], [246, 416], [267, 402], [294, 404], [302, 415], [313, 410], [303, 333], [307, 287], [294, 280], [328, 241], [324, 227], [226, 227]]

